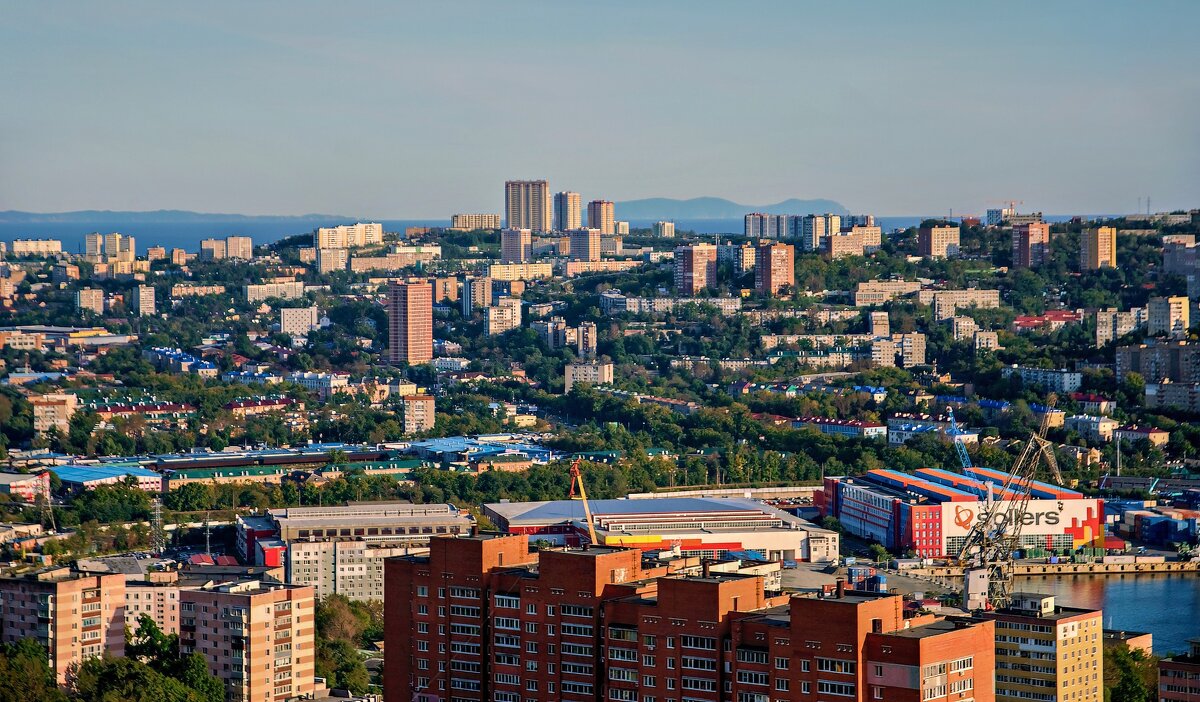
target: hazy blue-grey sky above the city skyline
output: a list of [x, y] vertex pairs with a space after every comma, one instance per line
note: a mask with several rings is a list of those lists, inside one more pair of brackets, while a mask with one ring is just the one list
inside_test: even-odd
[[0, 209], [1200, 205], [1200, 2], [984, 5], [0, 0]]

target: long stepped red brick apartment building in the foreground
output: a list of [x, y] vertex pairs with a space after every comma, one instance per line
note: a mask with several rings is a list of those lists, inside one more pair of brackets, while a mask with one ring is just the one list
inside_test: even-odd
[[388, 700], [995, 700], [994, 623], [905, 619], [895, 595], [790, 596], [493, 534], [389, 559], [385, 589]]

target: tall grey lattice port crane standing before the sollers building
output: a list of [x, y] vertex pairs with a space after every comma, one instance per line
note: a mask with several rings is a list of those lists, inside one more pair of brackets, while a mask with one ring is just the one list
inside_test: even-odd
[[[1042, 413], [1042, 422], [1025, 442], [1021, 452], [1006, 474], [998, 490], [990, 481], [979, 480], [971, 466], [971, 457], [962, 444], [958, 424], [950, 420], [952, 440], [962, 462], [962, 470], [970, 478], [986, 485], [986, 494], [979, 503], [978, 515], [958, 553], [958, 562], [965, 566], [962, 604], [967, 605], [971, 583], [980, 576], [986, 582], [988, 607], [1000, 608], [1009, 604], [1013, 594], [1013, 553], [1021, 545], [1021, 527], [1028, 514], [1033, 481], [1038, 466], [1045, 463], [1055, 482], [1063, 484], [1058, 461], [1054, 454], [1054, 443], [1045, 438], [1049, 428], [1050, 409], [1054, 407], [1051, 396], [1049, 407]], [[995, 492], [998, 492], [998, 498]]]

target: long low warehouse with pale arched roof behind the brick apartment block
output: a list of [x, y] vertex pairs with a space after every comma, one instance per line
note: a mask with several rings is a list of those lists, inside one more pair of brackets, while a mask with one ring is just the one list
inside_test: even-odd
[[[752, 499], [662, 497], [590, 500], [595, 542], [720, 558], [749, 551], [770, 560], [838, 558], [838, 533]], [[582, 500], [493, 503], [484, 514], [509, 534], [580, 546], [590, 539]]]

